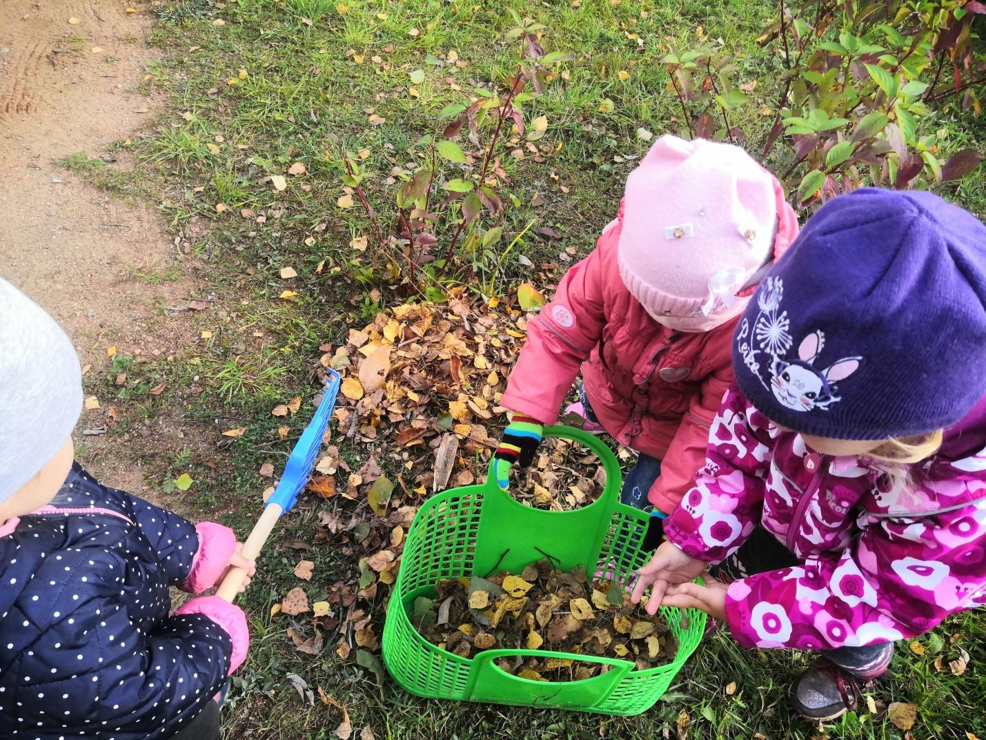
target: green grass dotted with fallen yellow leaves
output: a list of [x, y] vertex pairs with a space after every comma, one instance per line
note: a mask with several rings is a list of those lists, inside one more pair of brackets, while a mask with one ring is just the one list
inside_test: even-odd
[[[176, 230], [195, 234], [188, 237], [192, 253], [207, 264], [209, 290], [219, 299], [217, 310], [195, 315], [193, 321], [197, 330], [212, 336], [167, 358], [128, 366], [132, 385], [117, 390], [124, 411], [117, 431], [132, 432], [146, 419], [176, 414], [187, 444], [144, 448], [151, 480], [171, 490], [170, 481], [188, 472], [195, 482], [184, 506], [220, 509], [226, 523], [241, 533], [251, 526], [259, 491], [269, 482], [257, 475], [260, 465], [272, 462], [280, 469], [310, 413], [303, 407], [298, 416], [281, 419], [270, 415], [271, 408], [294, 396], [310, 399], [319, 346], [337, 346], [350, 326], [362, 327], [378, 310], [400, 300], [387, 289], [392, 281], [386, 260], [349, 247], [369, 227], [358, 205], [350, 210], [335, 205], [342, 194], [333, 154], [337, 144], [352, 152], [370, 151], [364, 162], [374, 173], [368, 190], [375, 202], [384, 203], [385, 178], [393, 165], [388, 158], [406, 162], [409, 146], [444, 125], [439, 111], [466, 102], [473, 88], [488, 86], [512, 68], [515, 50], [503, 38], [512, 25], [506, 9], [544, 23], [549, 50], [569, 52], [575, 59], [565, 65], [567, 79], [556, 80], [543, 97], [526, 105], [529, 117], [548, 118], [547, 135], [539, 142], [550, 152], [547, 161], [538, 164], [530, 156], [518, 160], [509, 154], [503, 161], [512, 179], [505, 189], [517, 199], [507, 231], [513, 236], [534, 222], [508, 259], [501, 260], [498, 252], [477, 262], [477, 279], [491, 275], [503, 293], [522, 279], [552, 279], [540, 264], [556, 261], [564, 269], [562, 250], [575, 248], [575, 255], [566, 257], [577, 259], [591, 249], [616, 211], [626, 175], [647, 150], [638, 129], [656, 135], [674, 129], [677, 101], [659, 63], [669, 40], [695, 43], [701, 26], [708, 39], [718, 44], [721, 38], [734, 56], [738, 80], [769, 80], [779, 71], [779, 61], [752, 40], [776, 10], [755, 0], [672, 0], [660, 5], [582, 0], [577, 8], [559, 0], [345, 0], [345, 5], [340, 13], [335, 0], [242, 0], [220, 13], [208, 0], [164, 3], [153, 34], [165, 58], [151, 64], [146, 84], [169, 93], [170, 112], [157, 130], [135, 139], [140, 159], [135, 174], [124, 177], [84, 155], [64, 162], [110, 190], [130, 192], [141, 183], [154, 183], [145, 194], [160, 203]], [[216, 18], [225, 25], [214, 25]], [[464, 68], [450, 63], [453, 50], [466, 62]], [[382, 62], [374, 62], [374, 56]], [[409, 72], [418, 69], [425, 78], [415, 85], [420, 97], [413, 98]], [[625, 80], [621, 71], [628, 74]], [[770, 92], [769, 85], [761, 84], [754, 105], [739, 113], [737, 122], [746, 130], [769, 127], [770, 116], [757, 110], [772, 105]], [[613, 110], [600, 112], [606, 99]], [[369, 122], [371, 108], [386, 119], [382, 124]], [[965, 113], [946, 111], [928, 125], [943, 129], [953, 150], [983, 148], [986, 141], [981, 122]], [[304, 162], [308, 173], [289, 176], [287, 189], [276, 191], [268, 176], [285, 174], [296, 161]], [[986, 213], [981, 172], [952, 185], [948, 193]], [[227, 206], [222, 213], [216, 210], [219, 203]], [[244, 208], [253, 216], [241, 216]], [[258, 223], [257, 216], [265, 222]], [[545, 226], [561, 233], [562, 240], [537, 236], [536, 229]], [[282, 280], [284, 266], [294, 267], [300, 277]], [[171, 279], [170, 270], [143, 265], [132, 273], [153, 283]], [[554, 273], [553, 279], [559, 275]], [[285, 289], [298, 296], [279, 299]], [[103, 388], [105, 378], [98, 379]], [[167, 401], [147, 394], [161, 382], [171, 389]], [[277, 433], [281, 425], [289, 427], [286, 439]], [[241, 437], [231, 440], [221, 434], [240, 426], [246, 426]], [[363, 450], [345, 440], [338, 444], [344, 456], [360, 462]], [[363, 513], [366, 504], [303, 496], [299, 510], [284, 521], [283, 539], [311, 540], [319, 510], [335, 508]], [[352, 660], [340, 660], [332, 644], [315, 658], [295, 651], [286, 635], [291, 621], [271, 619], [271, 606], [299, 584], [292, 571], [300, 556], [272, 544], [246, 593], [252, 645], [224, 714], [227, 737], [334, 737], [338, 713], [320, 703], [317, 694], [314, 705], [302, 702], [286, 678], [289, 673], [301, 676], [313, 691], [320, 686], [345, 703], [356, 737], [370, 726], [378, 738], [399, 740], [650, 740], [678, 737], [682, 711], [690, 722], [687, 736], [693, 738], [903, 736], [882, 716], [866, 713], [848, 715], [823, 729], [794, 716], [788, 687], [810, 656], [744, 650], [724, 632], [710, 635], [665, 700], [638, 717], [426, 702], [398, 691], [391, 682], [380, 689], [372, 673]], [[354, 558], [344, 555], [335, 541], [305, 556], [316, 561], [316, 577], [308, 588], [313, 601], [319, 590], [358, 575]], [[375, 616], [379, 634], [379, 604]], [[986, 619], [981, 613], [960, 615], [933, 635], [921, 640], [928, 647], [924, 655], [905, 647], [894, 661], [892, 682], [875, 699], [883, 705], [920, 704], [915, 738], [961, 738], [965, 732], [986, 737], [986, 684], [979, 675], [986, 665]], [[953, 635], [960, 636], [953, 641]], [[948, 661], [959, 645], [971, 660], [967, 673], [954, 677]], [[940, 653], [945, 655], [944, 672], [934, 666]], [[727, 694], [733, 682], [736, 691]]]

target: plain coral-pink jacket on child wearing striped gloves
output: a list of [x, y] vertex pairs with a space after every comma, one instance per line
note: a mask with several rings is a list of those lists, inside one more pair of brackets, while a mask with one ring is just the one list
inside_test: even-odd
[[[778, 197], [782, 206], [783, 193]], [[790, 208], [778, 210], [780, 256], [798, 224]], [[501, 404], [552, 424], [581, 368], [603, 428], [663, 460], [648, 497], [670, 512], [705, 462], [709, 424], [733, 381], [731, 342], [739, 317], [708, 333], [674, 333], [658, 324], [620, 277], [620, 229], [620, 218], [606, 227], [596, 250], [565, 273], [554, 298], [528, 324]]]

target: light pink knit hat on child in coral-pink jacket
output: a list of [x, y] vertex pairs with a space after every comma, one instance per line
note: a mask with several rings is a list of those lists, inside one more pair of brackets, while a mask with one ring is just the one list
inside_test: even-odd
[[657, 321], [709, 331], [797, 234], [781, 185], [740, 147], [666, 135], [627, 178], [620, 275]]

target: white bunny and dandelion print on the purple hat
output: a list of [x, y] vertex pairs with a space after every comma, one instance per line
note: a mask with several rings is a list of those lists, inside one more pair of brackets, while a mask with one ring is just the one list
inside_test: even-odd
[[[794, 340], [789, 333], [791, 322], [787, 311], [780, 311], [784, 299], [784, 282], [779, 277], [768, 277], [766, 289], [757, 299], [760, 310], [753, 322], [750, 336], [746, 319], [740, 324], [737, 344], [743, 362], [784, 407], [795, 411], [827, 408], [838, 402], [835, 384], [845, 380], [859, 368], [862, 357], [843, 357], [824, 370], [814, 367], [825, 346], [825, 335], [812, 332], [798, 345], [795, 359], [785, 357]], [[780, 312], [780, 313], [778, 313]], [[756, 346], [753, 346], [755, 337]], [[760, 373], [757, 355], [766, 355], [770, 371], [769, 382]]]

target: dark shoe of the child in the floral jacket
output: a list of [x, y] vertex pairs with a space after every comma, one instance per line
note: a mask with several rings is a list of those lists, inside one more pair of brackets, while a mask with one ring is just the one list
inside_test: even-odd
[[817, 722], [826, 722], [855, 710], [890, 665], [893, 643], [888, 642], [874, 660], [859, 668], [844, 668], [822, 658], [811, 665], [791, 688], [791, 703], [798, 712]]

